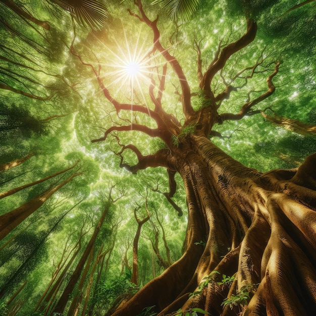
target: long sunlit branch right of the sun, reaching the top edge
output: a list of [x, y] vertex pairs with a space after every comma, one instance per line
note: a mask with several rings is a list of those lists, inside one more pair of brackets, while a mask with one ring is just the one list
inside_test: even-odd
[[191, 100], [190, 100], [190, 86], [187, 82], [187, 79], [185, 77], [185, 74], [177, 61], [177, 59], [169, 54], [168, 49], [165, 49], [161, 42], [160, 42], [160, 31], [157, 28], [157, 22], [158, 22], [158, 17], [151, 21], [148, 19], [146, 14], [143, 11], [143, 6], [140, 0], [134, 0], [134, 4], [138, 7], [140, 16], [132, 13], [130, 10], [129, 13], [131, 16], [134, 16], [138, 18], [141, 22], [144, 22], [147, 24], [153, 32], [153, 46], [156, 50], [160, 52], [160, 54], [165, 58], [165, 60], [171, 65], [173, 68], [174, 72], [179, 78], [179, 82], [181, 85], [181, 90], [182, 90], [182, 108], [183, 108], [183, 113], [186, 118], [194, 114], [194, 110], [191, 106]]

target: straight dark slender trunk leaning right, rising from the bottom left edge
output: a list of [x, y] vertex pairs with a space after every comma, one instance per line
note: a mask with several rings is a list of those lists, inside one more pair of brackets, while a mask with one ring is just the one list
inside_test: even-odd
[[66, 288], [65, 288], [65, 290], [64, 290], [64, 292], [62, 294], [62, 296], [60, 297], [57, 305], [54, 308], [54, 312], [59, 312], [59, 313], [63, 313], [64, 312], [64, 309], [66, 307], [67, 301], [69, 299], [69, 295], [72, 293], [72, 291], [73, 291], [73, 289], [74, 289], [74, 287], [75, 287], [75, 285], [76, 285], [76, 283], [77, 283], [77, 281], [78, 281], [78, 279], [79, 279], [79, 277], [81, 275], [81, 272], [82, 272], [82, 269], [84, 267], [84, 264], [85, 264], [85, 262], [87, 260], [87, 257], [88, 257], [88, 255], [89, 255], [89, 253], [90, 253], [90, 251], [91, 251], [91, 249], [92, 249], [92, 247], [94, 245], [95, 239], [97, 237], [98, 232], [101, 229], [101, 226], [102, 226], [102, 224], [104, 222], [104, 219], [106, 218], [106, 215], [108, 213], [109, 207], [110, 207], [110, 205], [108, 204], [104, 208], [103, 213], [102, 213], [102, 215], [100, 217], [100, 220], [99, 220], [98, 224], [96, 225], [95, 230], [94, 230], [94, 232], [93, 232], [93, 234], [92, 234], [92, 236], [90, 238], [90, 241], [89, 241], [86, 249], [84, 250], [84, 253], [82, 254], [82, 256], [81, 256], [81, 258], [80, 258], [80, 260], [79, 260], [79, 262], [77, 264], [77, 267], [76, 267], [74, 273], [72, 274], [72, 276], [71, 276], [71, 278], [70, 278], [70, 280], [69, 280], [69, 282], [68, 282], [68, 284], [67, 284], [67, 286], [66, 286]]

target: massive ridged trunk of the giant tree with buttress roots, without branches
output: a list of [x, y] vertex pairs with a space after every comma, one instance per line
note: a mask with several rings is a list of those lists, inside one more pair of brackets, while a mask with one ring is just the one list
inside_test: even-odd
[[[184, 254], [113, 315], [153, 305], [161, 316], [193, 307], [212, 315], [316, 314], [316, 154], [298, 169], [260, 174], [189, 135], [173, 162], [189, 212]], [[204, 249], [194, 244], [200, 240]], [[223, 275], [235, 280], [221, 284]], [[241, 293], [244, 301], [223, 307]]]

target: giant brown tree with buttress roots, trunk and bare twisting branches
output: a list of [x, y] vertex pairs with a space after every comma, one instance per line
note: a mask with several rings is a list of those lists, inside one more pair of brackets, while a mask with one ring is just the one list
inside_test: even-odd
[[[237, 113], [221, 113], [222, 101], [230, 97], [229, 91], [233, 91], [234, 87], [232, 82], [227, 83], [226, 89], [219, 93], [212, 86], [214, 78], [222, 73], [234, 54], [254, 40], [257, 25], [252, 19], [247, 19], [245, 33], [229, 44], [221, 43], [214, 60], [204, 72], [200, 67], [202, 60], [197, 46], [197, 78], [204, 102], [202, 108], [195, 110], [185, 73], [175, 56], [170, 54], [160, 40], [158, 18], [149, 19], [140, 0], [135, 1], [135, 5], [138, 12], [130, 11], [130, 15], [152, 30], [152, 51], [160, 52], [166, 65], [170, 65], [178, 77], [185, 121], [180, 123], [163, 108], [166, 65], [159, 83], [156, 84], [152, 79], [149, 86], [150, 99], [154, 105], [151, 110], [149, 107], [121, 103], [115, 99], [98, 71], [89, 64], [104, 96], [117, 112], [132, 110], [149, 115], [157, 126], [114, 125], [106, 130], [104, 136], [92, 142], [104, 141], [115, 131], [130, 130], [161, 138], [168, 149], [160, 149], [148, 155], [142, 155], [133, 144], [121, 145], [122, 149], [118, 153], [121, 156], [121, 166], [133, 173], [159, 166], [178, 172], [187, 194], [189, 223], [185, 252], [181, 259], [144, 286], [113, 315], [136, 315], [144, 307], [153, 305], [160, 315], [178, 308], [186, 311], [193, 307], [203, 308], [212, 314], [226, 315], [231, 313], [229, 302], [244, 293], [245, 289], [248, 289], [246, 314], [314, 313], [316, 240], [311, 223], [315, 221], [313, 166], [316, 154], [308, 156], [298, 169], [261, 174], [238, 163], [209, 140], [216, 124], [243, 119], [256, 104], [274, 93], [273, 79], [279, 72], [281, 61], [274, 62], [266, 79], [266, 91], [252, 98], [249, 92], [248, 100]], [[80, 58], [74, 49], [72, 51]], [[255, 65], [250, 70], [254, 73], [256, 68]], [[237, 73], [235, 78], [239, 76], [240, 73]], [[223, 81], [226, 83], [225, 79]], [[129, 166], [123, 163], [123, 153], [126, 150], [136, 154], [137, 164]], [[170, 191], [174, 191], [175, 184], [172, 181], [170, 183], [173, 183]], [[260, 242], [256, 240], [258, 235]], [[205, 243], [204, 250], [195, 244], [200, 240]], [[203, 280], [210, 278], [214, 271], [218, 271], [221, 276], [234, 275], [235, 281], [231, 286], [214, 286], [215, 281], [220, 283], [221, 278], [225, 278], [220, 276], [202, 286]], [[253, 294], [255, 284], [258, 286]], [[190, 296], [190, 292], [196, 294]], [[228, 299], [222, 310], [223, 297]], [[231, 306], [238, 312], [239, 306]]]

